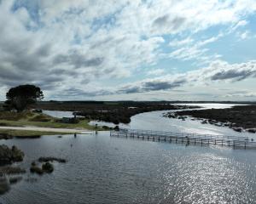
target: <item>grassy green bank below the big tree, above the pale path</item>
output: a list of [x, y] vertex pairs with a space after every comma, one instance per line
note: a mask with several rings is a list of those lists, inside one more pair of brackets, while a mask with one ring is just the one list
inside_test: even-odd
[[[89, 120], [79, 120], [78, 123], [62, 123], [56, 122], [57, 118], [44, 115], [42, 113], [33, 113], [26, 111], [22, 113], [14, 113], [8, 111], [0, 111], [0, 126], [13, 127], [54, 127], [54, 128], [84, 128], [88, 130], [96, 130], [94, 126], [90, 126]], [[97, 130], [107, 130], [98, 127]]]

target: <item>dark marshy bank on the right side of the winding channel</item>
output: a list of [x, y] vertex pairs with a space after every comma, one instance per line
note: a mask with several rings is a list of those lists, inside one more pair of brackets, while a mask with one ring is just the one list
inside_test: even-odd
[[165, 116], [183, 121], [190, 117], [191, 120], [200, 120], [202, 124], [230, 127], [236, 132], [256, 133], [256, 105], [236, 105], [228, 109], [168, 112]]

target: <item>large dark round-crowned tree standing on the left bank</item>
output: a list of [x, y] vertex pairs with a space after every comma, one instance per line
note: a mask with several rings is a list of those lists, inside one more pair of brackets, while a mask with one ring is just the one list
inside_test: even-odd
[[26, 84], [15, 88], [10, 88], [6, 94], [6, 105], [15, 108], [17, 111], [24, 111], [27, 105], [36, 103], [38, 100], [44, 99], [44, 94], [40, 88]]

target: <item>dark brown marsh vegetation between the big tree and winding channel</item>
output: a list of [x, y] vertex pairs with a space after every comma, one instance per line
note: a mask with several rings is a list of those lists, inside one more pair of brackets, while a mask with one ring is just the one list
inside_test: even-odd
[[[170, 102], [134, 102], [134, 101], [72, 101], [72, 102], [39, 102], [34, 108], [52, 111], [76, 111], [78, 116], [88, 120], [113, 122], [114, 124], [129, 123], [131, 116], [148, 111], [165, 111], [187, 109], [191, 106], [172, 105]], [[195, 107], [195, 106], [194, 106]]]

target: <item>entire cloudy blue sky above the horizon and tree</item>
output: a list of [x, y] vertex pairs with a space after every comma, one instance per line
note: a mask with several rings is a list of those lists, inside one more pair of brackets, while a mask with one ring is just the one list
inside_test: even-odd
[[0, 0], [0, 100], [256, 100], [256, 0]]

